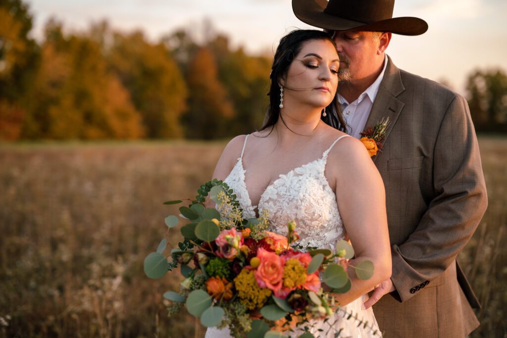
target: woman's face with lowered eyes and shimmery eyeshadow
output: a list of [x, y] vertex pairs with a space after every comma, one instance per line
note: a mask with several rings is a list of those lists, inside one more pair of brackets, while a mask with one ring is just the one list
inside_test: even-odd
[[327, 40], [306, 42], [288, 68], [283, 83], [284, 100], [295, 104], [326, 107], [335, 97], [340, 60]]

